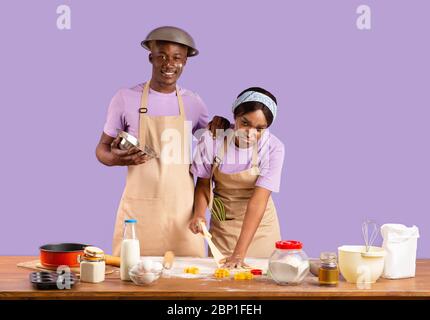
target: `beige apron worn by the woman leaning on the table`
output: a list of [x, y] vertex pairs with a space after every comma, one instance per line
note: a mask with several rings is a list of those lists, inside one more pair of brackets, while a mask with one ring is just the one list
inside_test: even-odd
[[[257, 145], [253, 148], [251, 168], [237, 173], [223, 173], [219, 165], [224, 157], [228, 143], [234, 143], [234, 139], [224, 141], [218, 155], [214, 158], [211, 172], [209, 208], [213, 203], [213, 197], [219, 197], [224, 203], [226, 221], [211, 219], [210, 233], [217, 248], [225, 256], [230, 256], [236, 247], [237, 240], [242, 229], [248, 201], [254, 192], [255, 183], [260, 174], [258, 168]], [[212, 179], [215, 189], [212, 190]], [[268, 258], [274, 251], [275, 242], [281, 240], [278, 216], [272, 197], [269, 198], [266, 211], [254, 238], [246, 253], [247, 257]]]

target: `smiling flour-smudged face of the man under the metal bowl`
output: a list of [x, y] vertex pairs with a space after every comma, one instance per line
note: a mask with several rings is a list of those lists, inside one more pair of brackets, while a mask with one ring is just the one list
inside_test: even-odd
[[175, 85], [187, 62], [187, 53], [186, 46], [173, 42], [151, 43], [149, 61], [152, 64], [152, 80], [161, 87]]

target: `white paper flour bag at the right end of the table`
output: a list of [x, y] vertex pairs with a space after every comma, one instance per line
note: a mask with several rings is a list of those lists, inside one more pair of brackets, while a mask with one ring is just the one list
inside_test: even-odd
[[382, 247], [386, 251], [384, 273], [388, 279], [415, 277], [418, 227], [384, 224], [381, 227]]

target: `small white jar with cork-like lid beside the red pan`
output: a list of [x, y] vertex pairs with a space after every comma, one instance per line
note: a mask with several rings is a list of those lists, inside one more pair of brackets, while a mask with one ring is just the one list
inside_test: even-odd
[[97, 247], [86, 247], [84, 255], [79, 256], [81, 281], [98, 283], [105, 280], [105, 256]]

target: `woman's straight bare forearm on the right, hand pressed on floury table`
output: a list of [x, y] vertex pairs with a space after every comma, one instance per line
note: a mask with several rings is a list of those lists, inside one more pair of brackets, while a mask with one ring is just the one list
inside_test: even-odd
[[248, 201], [245, 217], [243, 219], [242, 229], [233, 254], [226, 259], [225, 267], [240, 268], [245, 265], [243, 259], [246, 256], [248, 247], [254, 238], [264, 212], [266, 211], [267, 202], [271, 191], [261, 187], [255, 187], [254, 193]]

